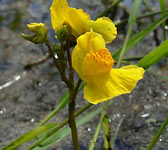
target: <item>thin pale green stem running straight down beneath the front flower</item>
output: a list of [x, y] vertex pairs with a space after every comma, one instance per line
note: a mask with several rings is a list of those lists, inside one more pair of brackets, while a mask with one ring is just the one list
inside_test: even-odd
[[89, 150], [93, 150], [94, 149], [94, 146], [96, 144], [96, 140], [97, 140], [97, 137], [99, 135], [100, 128], [101, 128], [104, 116], [106, 114], [106, 110], [108, 108], [108, 104], [109, 104], [109, 101], [105, 102], [105, 104], [104, 104], [103, 111], [101, 112], [100, 119], [99, 119], [99, 122], [97, 124], [96, 131], [95, 131], [95, 134], [93, 136], [92, 142], [90, 144]]

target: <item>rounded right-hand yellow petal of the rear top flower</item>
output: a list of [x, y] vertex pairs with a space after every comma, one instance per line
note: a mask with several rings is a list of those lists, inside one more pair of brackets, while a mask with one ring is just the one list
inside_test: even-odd
[[101, 34], [106, 43], [110, 43], [117, 36], [117, 29], [113, 21], [107, 17], [98, 18], [96, 21], [89, 20], [87, 28]]

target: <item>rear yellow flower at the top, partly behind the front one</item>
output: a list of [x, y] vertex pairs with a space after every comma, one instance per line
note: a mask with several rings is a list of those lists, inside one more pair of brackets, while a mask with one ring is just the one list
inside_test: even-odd
[[72, 35], [76, 38], [90, 29], [100, 33], [106, 43], [110, 43], [117, 35], [117, 29], [109, 18], [102, 17], [93, 21], [82, 9], [69, 7], [66, 0], [54, 0], [50, 9], [51, 22], [55, 32], [62, 25], [68, 24], [72, 29]]

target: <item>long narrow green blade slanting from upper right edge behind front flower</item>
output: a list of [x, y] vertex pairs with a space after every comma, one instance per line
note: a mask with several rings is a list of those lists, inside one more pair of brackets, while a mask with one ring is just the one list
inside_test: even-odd
[[[128, 52], [133, 46], [135, 46], [137, 43], [139, 43], [141, 40], [145, 38], [151, 31], [155, 30], [160, 24], [162, 24], [166, 19], [168, 19], [168, 13], [161, 16], [159, 19], [157, 19], [155, 22], [153, 22], [151, 25], [149, 25], [147, 28], [142, 30], [141, 32], [135, 34], [127, 43], [127, 47], [125, 50], [125, 53]], [[119, 54], [121, 52], [121, 48], [119, 48], [114, 54], [113, 58], [115, 60], [118, 59]]]

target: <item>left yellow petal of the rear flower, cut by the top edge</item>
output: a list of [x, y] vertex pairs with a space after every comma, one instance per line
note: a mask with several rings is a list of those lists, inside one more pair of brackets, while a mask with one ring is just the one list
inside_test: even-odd
[[55, 32], [63, 25], [69, 24], [75, 37], [87, 30], [90, 16], [82, 9], [71, 8], [66, 0], [54, 0], [51, 5], [51, 22]]

